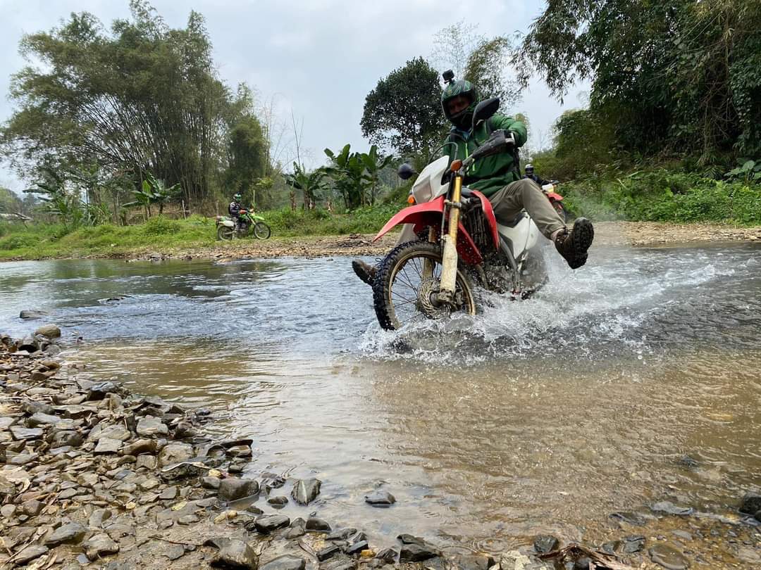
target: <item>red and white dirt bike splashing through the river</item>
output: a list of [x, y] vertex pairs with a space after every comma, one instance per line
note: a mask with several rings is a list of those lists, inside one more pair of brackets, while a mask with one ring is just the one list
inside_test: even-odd
[[[473, 126], [489, 119], [498, 99], [482, 101]], [[468, 167], [483, 157], [514, 150], [505, 131], [491, 137], [465, 160], [444, 156], [428, 164], [412, 186], [410, 201], [375, 236], [409, 224], [397, 245], [380, 262], [373, 283], [375, 314], [382, 328], [399, 329], [426, 318], [455, 312], [475, 315], [473, 283], [486, 290], [526, 298], [544, 283], [542, 258], [535, 250], [539, 230], [523, 211], [507, 225], [497, 223], [486, 196], [463, 187]], [[399, 176], [415, 172], [408, 164]]]

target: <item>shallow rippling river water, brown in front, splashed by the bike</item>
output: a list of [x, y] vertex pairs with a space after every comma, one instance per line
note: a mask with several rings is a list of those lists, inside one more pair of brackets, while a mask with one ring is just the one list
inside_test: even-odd
[[[211, 408], [218, 435], [253, 438], [252, 476], [323, 480], [286, 514], [494, 551], [660, 500], [727, 513], [757, 489], [759, 254], [550, 258], [533, 299], [400, 332], [347, 258], [13, 262], [0, 332], [45, 310], [84, 374]], [[376, 488], [396, 505], [365, 505]]]

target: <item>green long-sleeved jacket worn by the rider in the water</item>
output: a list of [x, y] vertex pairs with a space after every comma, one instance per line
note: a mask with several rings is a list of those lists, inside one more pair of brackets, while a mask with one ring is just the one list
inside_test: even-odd
[[[447, 144], [444, 147], [444, 154], [449, 155], [450, 162], [455, 158], [464, 160], [470, 157], [473, 150], [481, 146], [493, 131], [500, 128], [505, 129], [505, 131], [512, 131], [515, 136], [516, 147], [522, 147], [525, 144], [527, 138], [526, 125], [512, 117], [495, 113], [487, 121], [481, 122], [476, 127], [475, 133], [452, 128], [449, 131], [447, 142], [456, 143], [457, 148], [455, 149], [454, 144]], [[517, 150], [514, 154], [504, 152], [477, 160], [468, 169], [465, 178], [467, 187], [478, 190], [486, 196], [491, 196], [510, 182], [520, 180], [521, 166], [516, 162], [516, 159]]]

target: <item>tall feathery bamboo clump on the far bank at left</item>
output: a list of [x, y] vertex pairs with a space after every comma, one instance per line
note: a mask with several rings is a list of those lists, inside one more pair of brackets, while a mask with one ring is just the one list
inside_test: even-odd
[[93, 164], [110, 178], [151, 172], [179, 183], [186, 204], [211, 199], [222, 180], [250, 185], [263, 172], [261, 128], [250, 92], [218, 78], [203, 17], [170, 29], [145, 0], [130, 8], [110, 28], [83, 12], [24, 36], [29, 65], [11, 79], [5, 157], [24, 175]]

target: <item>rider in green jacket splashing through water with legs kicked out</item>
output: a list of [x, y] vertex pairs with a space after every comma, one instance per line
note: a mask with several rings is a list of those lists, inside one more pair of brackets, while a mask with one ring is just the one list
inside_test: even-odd
[[[508, 137], [514, 138], [514, 151], [484, 157], [473, 163], [465, 179], [466, 185], [489, 198], [499, 223], [510, 223], [525, 209], [543, 236], [552, 240], [568, 265], [572, 269], [580, 268], [587, 261], [587, 249], [594, 239], [592, 223], [580, 217], [576, 219], [572, 230], [568, 230], [537, 182], [521, 177], [517, 147], [526, 142], [526, 125], [495, 113], [473, 127], [473, 112], [478, 103], [476, 87], [470, 81], [447, 81], [441, 93], [441, 108], [453, 125], [447, 143], [454, 144], [445, 147], [450, 160], [464, 160], [489, 138], [492, 131], [504, 129]], [[403, 229], [400, 243], [412, 239], [416, 239], [416, 236], [412, 225], [408, 224]], [[372, 285], [377, 268], [361, 259], [352, 261], [352, 268], [357, 277]]]

